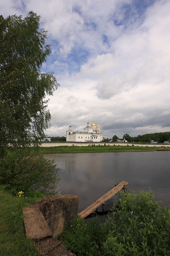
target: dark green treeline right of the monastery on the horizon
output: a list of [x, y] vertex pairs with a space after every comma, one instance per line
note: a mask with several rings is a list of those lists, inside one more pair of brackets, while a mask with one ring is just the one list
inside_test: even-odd
[[143, 135], [139, 134], [137, 137], [131, 137], [126, 133], [123, 135], [123, 138], [118, 138], [116, 135], [112, 138], [113, 142], [123, 139], [128, 142], [151, 143], [151, 140], [153, 140], [158, 141], [158, 143], [163, 143], [164, 141], [170, 141], [170, 132], [147, 133]]

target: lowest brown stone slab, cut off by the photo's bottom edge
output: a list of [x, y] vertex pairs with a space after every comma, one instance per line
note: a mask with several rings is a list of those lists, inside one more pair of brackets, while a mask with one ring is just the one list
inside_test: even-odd
[[35, 248], [42, 256], [76, 256], [65, 245], [54, 238], [45, 238], [35, 242]]

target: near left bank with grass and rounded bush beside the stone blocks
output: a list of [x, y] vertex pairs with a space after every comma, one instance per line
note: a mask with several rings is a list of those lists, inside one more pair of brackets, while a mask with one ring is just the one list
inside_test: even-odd
[[0, 158], [0, 255], [38, 255], [24, 235], [23, 207], [53, 193], [56, 164], [25, 148], [10, 148]]

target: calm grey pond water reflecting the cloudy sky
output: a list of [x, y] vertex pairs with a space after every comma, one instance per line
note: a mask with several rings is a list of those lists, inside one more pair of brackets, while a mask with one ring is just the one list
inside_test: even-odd
[[[170, 151], [46, 154], [44, 157], [55, 159], [61, 169], [57, 190], [79, 197], [78, 212], [123, 180], [129, 183], [128, 191], [138, 194], [150, 187], [155, 200], [170, 205]], [[116, 195], [106, 202], [104, 210], [109, 210], [115, 201]], [[102, 206], [98, 210], [102, 211]]]

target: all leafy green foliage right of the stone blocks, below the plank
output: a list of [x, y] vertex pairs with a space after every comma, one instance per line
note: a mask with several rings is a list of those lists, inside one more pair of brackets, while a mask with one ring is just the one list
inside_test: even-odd
[[154, 201], [151, 190], [117, 196], [117, 204], [103, 224], [97, 219], [85, 224], [78, 218], [60, 235], [62, 242], [77, 256], [168, 256], [170, 208]]

